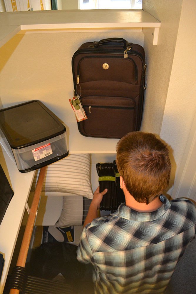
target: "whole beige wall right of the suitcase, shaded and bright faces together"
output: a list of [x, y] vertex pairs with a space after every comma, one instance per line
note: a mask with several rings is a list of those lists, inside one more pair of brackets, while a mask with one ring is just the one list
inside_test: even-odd
[[172, 195], [196, 108], [196, 1], [143, 0], [143, 9], [161, 21], [161, 28], [157, 46], [144, 41], [148, 88], [142, 130], [170, 146], [167, 193]]

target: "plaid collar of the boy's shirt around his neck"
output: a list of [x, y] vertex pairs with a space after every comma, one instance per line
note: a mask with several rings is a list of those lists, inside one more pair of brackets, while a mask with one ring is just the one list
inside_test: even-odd
[[163, 205], [158, 208], [156, 211], [152, 212], [139, 212], [135, 211], [134, 209], [126, 206], [124, 203], [120, 204], [117, 211], [112, 213], [113, 216], [122, 217], [128, 220], [135, 220], [135, 221], [150, 221], [155, 220], [162, 216], [171, 206], [170, 201], [164, 196], [159, 196], [160, 201], [163, 202]]

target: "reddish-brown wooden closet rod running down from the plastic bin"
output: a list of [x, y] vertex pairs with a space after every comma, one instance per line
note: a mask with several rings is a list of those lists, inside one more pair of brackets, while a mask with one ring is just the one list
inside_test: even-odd
[[[26, 228], [24, 231], [24, 236], [22, 239], [22, 244], [21, 244], [21, 248], [20, 248], [20, 252], [19, 252], [16, 266], [25, 267], [27, 253], [28, 253], [29, 245], [30, 245], [30, 241], [31, 241], [31, 235], [33, 232], [33, 226], [35, 223], [37, 208], [38, 208], [39, 199], [40, 199], [40, 195], [41, 195], [41, 189], [43, 186], [43, 180], [44, 180], [44, 177], [46, 174], [46, 168], [47, 168], [47, 166], [42, 167], [39, 172], [39, 177], [38, 177], [38, 181], [36, 184], [35, 193], [33, 196], [33, 202], [31, 204], [31, 209], [29, 212], [29, 217], [28, 217]], [[10, 289], [9, 294], [19, 294], [19, 290]]]

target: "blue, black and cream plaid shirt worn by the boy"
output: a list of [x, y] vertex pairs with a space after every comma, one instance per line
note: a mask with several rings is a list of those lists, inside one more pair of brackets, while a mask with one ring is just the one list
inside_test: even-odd
[[184, 198], [141, 213], [121, 204], [83, 229], [77, 259], [94, 265], [96, 294], [164, 293], [177, 261], [195, 238], [196, 208]]

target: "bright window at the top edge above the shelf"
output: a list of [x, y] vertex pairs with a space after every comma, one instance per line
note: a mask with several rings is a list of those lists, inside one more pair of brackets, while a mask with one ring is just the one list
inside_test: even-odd
[[142, 0], [79, 0], [79, 9], [142, 9]]

